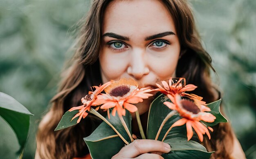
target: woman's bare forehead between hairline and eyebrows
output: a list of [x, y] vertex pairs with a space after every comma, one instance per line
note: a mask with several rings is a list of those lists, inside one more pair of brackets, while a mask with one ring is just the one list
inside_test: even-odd
[[176, 33], [171, 14], [158, 0], [113, 1], [104, 13], [103, 34], [113, 32], [134, 36], [165, 31]]

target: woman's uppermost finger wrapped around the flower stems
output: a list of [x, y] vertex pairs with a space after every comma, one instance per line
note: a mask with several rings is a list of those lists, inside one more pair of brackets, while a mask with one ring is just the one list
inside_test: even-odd
[[136, 139], [134, 142], [124, 146], [118, 154], [124, 157], [134, 158], [153, 151], [167, 153], [171, 151], [171, 146], [157, 140]]

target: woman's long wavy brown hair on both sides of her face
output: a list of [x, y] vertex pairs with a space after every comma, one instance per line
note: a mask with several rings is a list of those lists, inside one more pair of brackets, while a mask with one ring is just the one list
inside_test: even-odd
[[[81, 105], [80, 99], [90, 86], [101, 84], [99, 53], [103, 13], [111, 0], [94, 0], [85, 22], [81, 25], [76, 51], [69, 67], [63, 72], [58, 94], [52, 98], [52, 107], [39, 124], [36, 137], [37, 151], [42, 159], [82, 157], [89, 153], [83, 137], [90, 135], [100, 124], [97, 118], [88, 115], [79, 124], [54, 132], [62, 115], [71, 107]], [[187, 83], [197, 85], [193, 92], [213, 102], [220, 98], [210, 79], [211, 57], [204, 50], [195, 29], [193, 14], [186, 0], [161, 0], [175, 22], [181, 44], [176, 76], [185, 77]], [[214, 71], [215, 72], [215, 71]], [[230, 158], [233, 137], [229, 123], [214, 127], [212, 139], [204, 139], [208, 151], [215, 151], [212, 158]], [[229, 148], [228, 148], [229, 147]]]

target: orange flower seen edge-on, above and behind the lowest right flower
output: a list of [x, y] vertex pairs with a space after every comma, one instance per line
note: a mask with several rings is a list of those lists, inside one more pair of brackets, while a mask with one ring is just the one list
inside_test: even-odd
[[193, 91], [197, 86], [189, 84], [186, 85], [186, 79], [185, 78], [169, 78], [169, 84], [166, 81], [162, 81], [162, 84], [164, 87], [161, 85], [157, 84], [157, 89], [154, 89], [155, 91], [160, 91], [163, 94], [168, 95], [175, 95], [175, 94], [180, 94], [181, 96], [188, 96], [190, 98], [195, 98], [198, 100], [202, 100], [202, 97], [197, 96], [195, 94], [187, 94], [184, 93], [185, 91]]

